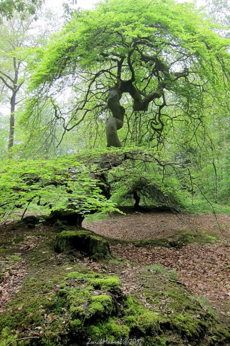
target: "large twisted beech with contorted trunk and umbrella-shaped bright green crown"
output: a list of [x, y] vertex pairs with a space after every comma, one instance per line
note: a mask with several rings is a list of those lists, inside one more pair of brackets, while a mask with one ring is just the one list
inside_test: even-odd
[[117, 130], [126, 113], [150, 113], [148, 131], [159, 136], [165, 115], [201, 122], [207, 95], [227, 101], [228, 45], [192, 3], [106, 0], [76, 14], [38, 51], [29, 113], [51, 102], [64, 133], [86, 117], [106, 118], [108, 147], [122, 146]]

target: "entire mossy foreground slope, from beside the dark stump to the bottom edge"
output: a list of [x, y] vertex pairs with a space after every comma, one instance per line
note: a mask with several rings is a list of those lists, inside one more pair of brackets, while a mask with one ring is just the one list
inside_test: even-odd
[[[22, 254], [27, 274], [0, 315], [0, 346], [84, 346], [89, 338], [111, 345], [126, 338], [146, 346], [228, 345], [230, 334], [219, 317], [177, 283], [175, 273], [115, 258], [94, 264], [71, 252], [57, 254], [55, 234], [36, 232], [51, 236]], [[140, 287], [129, 295], [121, 274], [126, 264]]]

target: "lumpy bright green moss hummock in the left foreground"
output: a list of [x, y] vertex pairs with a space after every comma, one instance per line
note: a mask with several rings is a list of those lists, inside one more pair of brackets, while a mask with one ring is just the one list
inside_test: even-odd
[[[96, 320], [107, 321], [109, 316], [115, 314], [118, 305], [122, 303], [122, 299], [117, 300], [118, 291], [119, 297], [122, 296], [118, 286], [119, 280], [94, 273], [84, 267], [79, 270], [82, 272], [75, 271], [63, 277], [60, 289], [56, 293], [53, 292], [55, 278], [49, 277], [45, 284], [38, 282], [38, 278], [35, 277], [28, 280], [22, 289], [22, 292], [25, 290], [24, 293], [27, 296], [23, 297], [21, 292], [12, 301], [10, 310], [0, 317], [0, 329], [11, 329], [7, 340], [14, 340], [12, 330], [18, 330], [19, 327], [21, 330], [34, 330], [43, 326], [41, 328], [47, 338], [39, 340], [39, 345], [63, 346], [66, 345], [66, 334], [68, 334], [68, 340], [71, 340], [73, 335], [79, 336], [81, 333], [86, 337], [87, 334], [84, 331], [88, 327], [87, 321], [92, 323]], [[99, 286], [101, 291], [96, 291], [95, 286]], [[110, 290], [111, 293], [103, 288]], [[37, 293], [40, 291], [40, 294], [33, 296], [34, 291]], [[47, 321], [44, 321], [44, 315], [47, 316]], [[65, 320], [74, 321], [71, 322], [69, 331]], [[53, 323], [50, 323], [51, 321]], [[34, 340], [33, 342], [33, 345], [36, 345]]]

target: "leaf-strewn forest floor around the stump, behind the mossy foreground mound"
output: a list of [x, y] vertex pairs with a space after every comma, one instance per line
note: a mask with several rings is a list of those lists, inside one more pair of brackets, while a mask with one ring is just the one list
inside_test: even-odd
[[[217, 313], [223, 324], [230, 325], [230, 215], [217, 214], [216, 217], [130, 210], [127, 215], [115, 214], [93, 223], [84, 221], [84, 228], [115, 240], [111, 240], [110, 246], [113, 259], [106, 262], [93, 262], [85, 257], [72, 259], [72, 256], [55, 253], [50, 247], [55, 229], [39, 225], [28, 230], [12, 228], [11, 223], [2, 224], [0, 313], [7, 311], [11, 299], [27, 280], [34, 276], [43, 278], [49, 275], [49, 270], [68, 273], [81, 263], [98, 273], [118, 276], [125, 294], [133, 294], [146, 308], [151, 309], [155, 304], [155, 311], [165, 316], [171, 312], [167, 299], [162, 297], [156, 306], [146, 296], [148, 287], [144, 282], [155, 278], [151, 285], [157, 290], [160, 282], [169, 280], [188, 288], [204, 311], [214, 316]], [[163, 244], [162, 240], [167, 241], [166, 247], [156, 246]], [[151, 279], [147, 279], [143, 270]], [[55, 292], [60, 285], [55, 286], [53, 282], [52, 292]], [[20, 308], [23, 309], [23, 302], [18, 310]]]

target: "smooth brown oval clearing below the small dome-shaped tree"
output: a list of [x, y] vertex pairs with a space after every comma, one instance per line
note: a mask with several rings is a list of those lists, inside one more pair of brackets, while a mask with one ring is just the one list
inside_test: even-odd
[[186, 229], [220, 231], [225, 234], [230, 229], [230, 215], [217, 214], [174, 214], [131, 213], [96, 221], [93, 224], [83, 222], [83, 227], [98, 234], [123, 240], [163, 238], [175, 231]]

